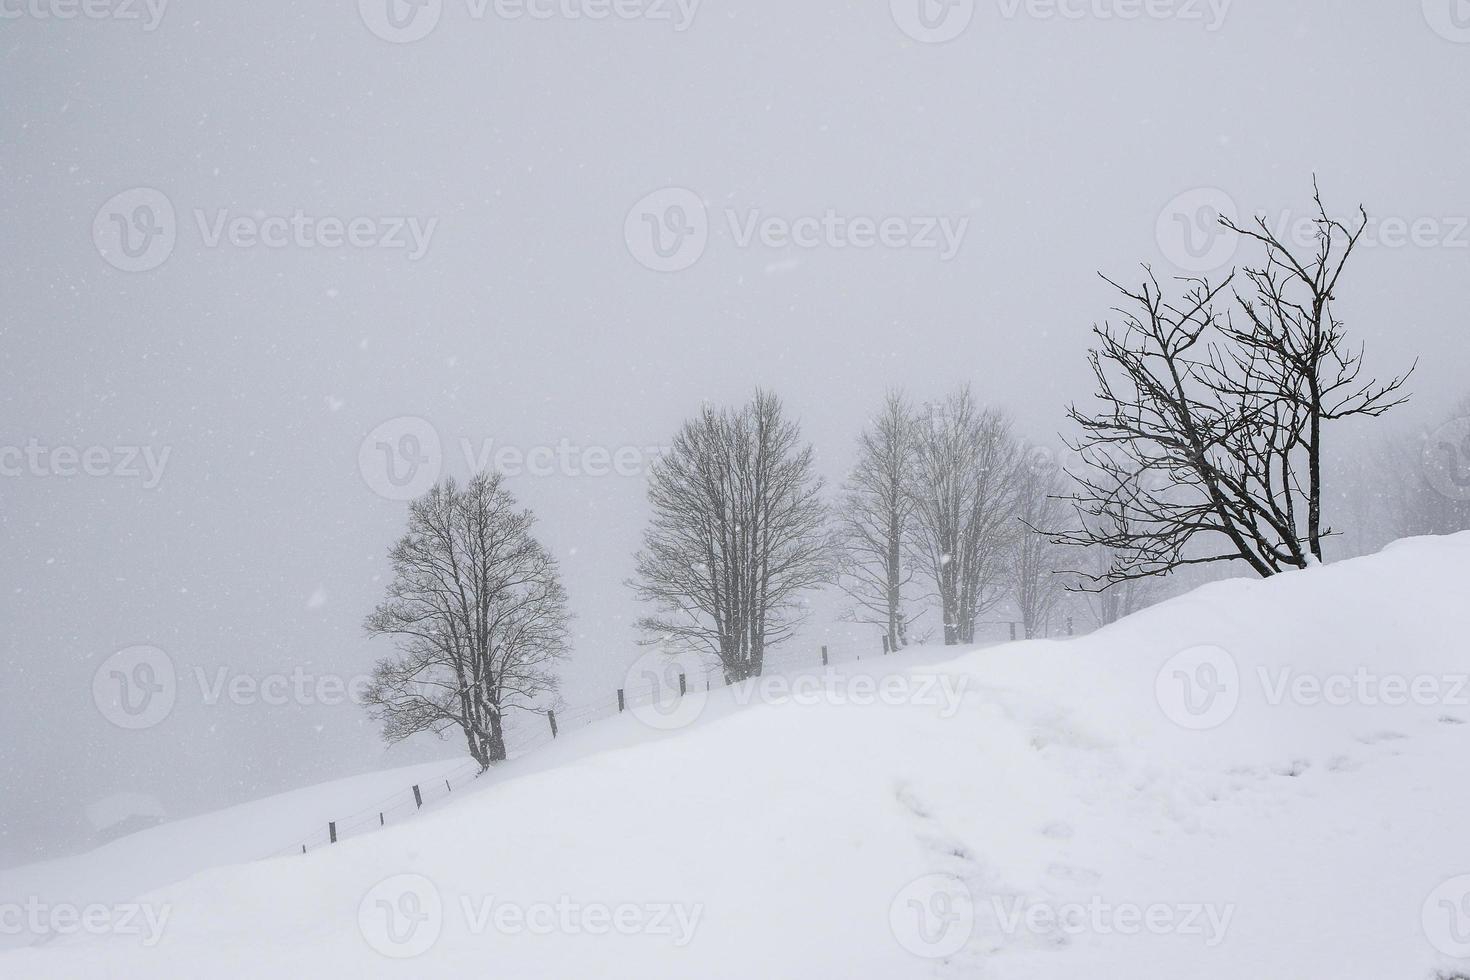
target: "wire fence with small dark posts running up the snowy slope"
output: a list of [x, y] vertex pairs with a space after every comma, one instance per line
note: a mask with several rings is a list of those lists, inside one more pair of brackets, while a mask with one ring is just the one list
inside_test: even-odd
[[[976, 623], [976, 626], [985, 630], [986, 636], [983, 639], [1017, 639], [1017, 623], [1001, 620]], [[978, 635], [976, 641], [980, 639], [982, 636]], [[903, 651], [894, 652], [901, 654]], [[864, 658], [875, 661], [886, 657], [888, 654], [889, 649], [886, 636], [882, 638], [881, 648], [867, 651], [833, 651], [831, 646], [820, 646], [817, 651], [811, 651], [810, 648], [786, 648], [769, 651], [764, 658], [763, 670], [769, 673], [801, 674], [841, 664], [863, 663]], [[610, 718], [623, 711], [662, 704], [669, 698], [684, 696], [694, 688], [713, 691], [723, 686], [726, 686], [725, 677], [717, 670], [706, 670], [703, 674], [695, 674], [692, 677], [688, 673], [681, 673], [678, 674], [676, 686], [672, 683], [664, 685], [659, 677], [654, 677], [645, 689], [619, 688], [607, 696], [575, 707], [562, 705], [544, 711], [528, 713], [529, 718], [535, 718], [537, 721], [529, 726], [516, 724], [513, 727], [507, 727], [504, 733], [506, 757], [509, 760], [522, 758], [529, 752], [550, 745], [566, 732], [584, 729], [594, 721]], [[365, 807], [344, 817], [325, 820], [319, 824], [315, 833], [298, 837], [290, 845], [273, 851], [268, 857], [307, 854], [309, 851], [331, 846], [340, 840], [373, 833], [388, 824], [412, 820], [425, 810], [434, 810], [448, 799], [453, 799], [454, 790], [463, 790], [466, 786], [479, 779], [481, 774], [482, 771], [479, 764], [467, 761], [463, 765], [450, 770], [444, 776], [419, 782], [392, 793], [391, 796], [379, 799], [370, 807]]]

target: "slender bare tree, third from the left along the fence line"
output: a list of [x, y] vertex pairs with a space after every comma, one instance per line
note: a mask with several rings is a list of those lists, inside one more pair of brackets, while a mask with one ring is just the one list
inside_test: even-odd
[[900, 392], [858, 436], [857, 466], [848, 476], [838, 517], [838, 585], [853, 601], [851, 616], [882, 627], [891, 649], [908, 645], [907, 607], [913, 570], [910, 479], [917, 450], [914, 417]]

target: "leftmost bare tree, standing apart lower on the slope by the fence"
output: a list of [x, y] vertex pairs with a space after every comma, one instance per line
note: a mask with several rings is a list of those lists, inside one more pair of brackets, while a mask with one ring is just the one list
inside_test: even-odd
[[506, 758], [506, 714], [556, 691], [569, 614], [534, 523], [498, 473], [445, 479], [410, 504], [388, 595], [366, 621], [398, 641], [366, 696], [388, 742], [459, 727], [485, 768]]

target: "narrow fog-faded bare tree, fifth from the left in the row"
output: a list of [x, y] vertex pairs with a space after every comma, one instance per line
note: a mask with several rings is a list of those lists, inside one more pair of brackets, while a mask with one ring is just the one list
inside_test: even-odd
[[1026, 638], [1041, 635], [1067, 591], [1070, 548], [1053, 541], [1050, 529], [1067, 516], [1064, 497], [1070, 488], [1055, 458], [1028, 448], [1016, 467], [1016, 520], [1020, 529], [1011, 554], [1016, 608]]

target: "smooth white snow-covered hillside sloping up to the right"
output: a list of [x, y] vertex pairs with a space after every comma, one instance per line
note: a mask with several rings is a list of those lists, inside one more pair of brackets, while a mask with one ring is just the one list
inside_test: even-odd
[[1414, 539], [691, 692], [306, 857], [0, 896], [74, 933], [0, 977], [1470, 976], [1467, 594]]

